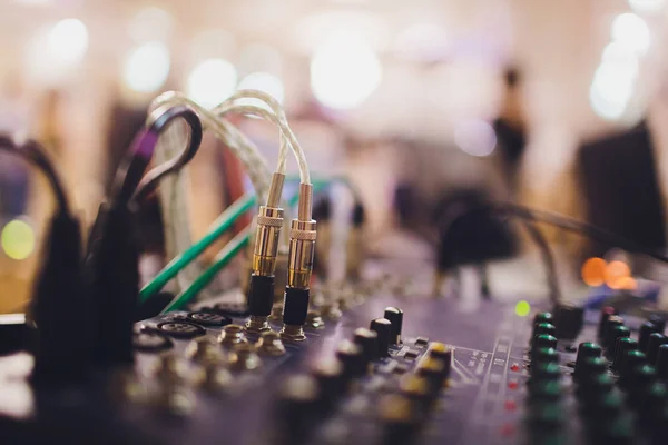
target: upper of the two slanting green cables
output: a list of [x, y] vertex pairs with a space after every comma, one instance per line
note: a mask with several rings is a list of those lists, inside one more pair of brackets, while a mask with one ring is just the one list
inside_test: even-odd
[[212, 224], [210, 229], [202, 239], [183, 254], [176, 256], [158, 275], [139, 291], [139, 301], [144, 303], [157, 293], [176, 275], [218, 239], [237, 218], [255, 205], [255, 196], [246, 194], [229, 206]]

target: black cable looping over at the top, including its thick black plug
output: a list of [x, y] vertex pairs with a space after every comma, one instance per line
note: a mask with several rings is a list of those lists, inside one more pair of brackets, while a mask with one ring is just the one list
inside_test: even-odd
[[[160, 135], [177, 120], [189, 127], [185, 149], [145, 175]], [[157, 108], [119, 167], [109, 201], [100, 206], [85, 264], [87, 291], [96, 304], [92, 358], [98, 367], [134, 360], [132, 326], [139, 294], [138, 205], [164, 177], [193, 159], [200, 142], [202, 123], [189, 107]]]

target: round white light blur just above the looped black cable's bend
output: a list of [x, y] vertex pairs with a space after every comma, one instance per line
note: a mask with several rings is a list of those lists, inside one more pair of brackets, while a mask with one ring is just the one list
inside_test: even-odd
[[203, 107], [213, 108], [234, 93], [237, 72], [224, 59], [207, 59], [188, 77], [187, 95]]

